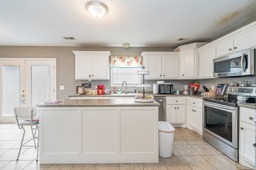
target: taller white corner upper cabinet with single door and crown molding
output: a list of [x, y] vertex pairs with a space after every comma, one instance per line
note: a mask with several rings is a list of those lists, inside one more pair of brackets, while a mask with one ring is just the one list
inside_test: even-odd
[[199, 78], [198, 48], [207, 43], [192, 43], [174, 49], [180, 52], [180, 79]]

